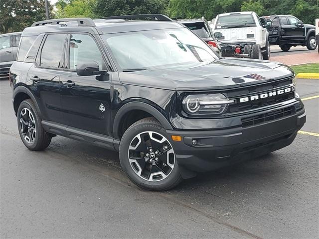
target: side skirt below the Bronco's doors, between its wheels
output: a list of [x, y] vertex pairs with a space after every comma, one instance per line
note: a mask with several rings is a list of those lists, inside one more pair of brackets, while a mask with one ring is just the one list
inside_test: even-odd
[[79, 128], [70, 127], [64, 124], [42, 120], [42, 126], [45, 131], [79, 141], [92, 143], [94, 145], [107, 149], [119, 150], [120, 141], [113, 137], [99, 133], [93, 133]]

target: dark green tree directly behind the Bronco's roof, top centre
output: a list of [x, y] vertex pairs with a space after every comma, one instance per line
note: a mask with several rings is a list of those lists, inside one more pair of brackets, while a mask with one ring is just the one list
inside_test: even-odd
[[167, 14], [169, 0], [96, 0], [99, 17], [129, 14]]

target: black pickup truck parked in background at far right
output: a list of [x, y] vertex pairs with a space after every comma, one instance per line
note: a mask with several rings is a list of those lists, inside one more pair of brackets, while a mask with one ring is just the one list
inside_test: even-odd
[[315, 26], [304, 24], [292, 15], [272, 15], [261, 17], [267, 24], [269, 42], [279, 45], [283, 51], [289, 51], [292, 46], [307, 46], [308, 50], [317, 47]]

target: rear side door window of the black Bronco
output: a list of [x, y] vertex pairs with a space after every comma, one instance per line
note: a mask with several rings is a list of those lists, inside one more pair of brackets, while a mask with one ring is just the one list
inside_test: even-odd
[[42, 67], [60, 68], [66, 34], [51, 34], [46, 37], [40, 58]]

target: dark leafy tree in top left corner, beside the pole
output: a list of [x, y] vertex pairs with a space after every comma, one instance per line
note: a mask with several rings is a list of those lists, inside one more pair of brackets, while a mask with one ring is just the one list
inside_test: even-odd
[[[51, 5], [49, 9], [52, 10]], [[44, 19], [44, 0], [1, 0], [0, 33], [22, 31], [34, 21]]]

